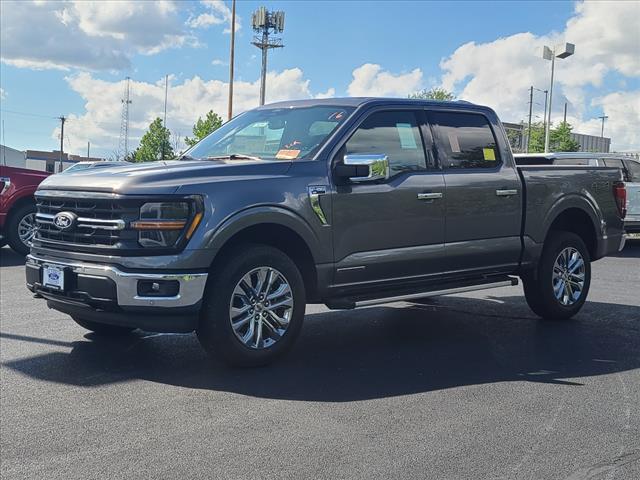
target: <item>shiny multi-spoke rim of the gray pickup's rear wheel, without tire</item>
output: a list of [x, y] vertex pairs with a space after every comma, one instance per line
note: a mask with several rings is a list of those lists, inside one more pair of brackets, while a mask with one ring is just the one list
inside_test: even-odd
[[586, 268], [584, 258], [573, 248], [563, 249], [553, 264], [553, 294], [561, 305], [575, 304], [584, 291]]

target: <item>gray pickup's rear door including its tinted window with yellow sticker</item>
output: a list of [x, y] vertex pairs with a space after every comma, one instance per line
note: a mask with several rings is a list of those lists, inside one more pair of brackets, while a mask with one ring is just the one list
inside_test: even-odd
[[[480, 112], [430, 110], [446, 186], [450, 272], [512, 271], [521, 253], [522, 185], [498, 124]], [[509, 162], [509, 163], [507, 163]]]

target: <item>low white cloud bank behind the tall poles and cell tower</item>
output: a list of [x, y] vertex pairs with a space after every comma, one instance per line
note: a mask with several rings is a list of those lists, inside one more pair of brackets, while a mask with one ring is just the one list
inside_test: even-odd
[[[65, 124], [71, 152], [81, 152], [91, 141], [92, 148], [114, 152], [120, 133], [121, 102], [124, 81], [109, 82], [82, 72], [66, 78], [72, 90], [84, 100], [85, 112], [69, 115]], [[193, 124], [199, 116], [213, 110], [225, 118], [227, 111], [228, 83], [220, 80], [204, 80], [199, 76], [175, 83], [169, 78], [167, 103], [167, 127], [180, 136], [191, 136]], [[130, 146], [134, 149], [149, 124], [164, 112], [164, 78], [156, 83], [131, 81], [131, 105], [129, 107]], [[234, 113], [258, 106], [260, 80], [234, 83]], [[329, 89], [324, 94], [333, 94]], [[267, 74], [267, 101], [276, 102], [295, 98], [313, 98], [310, 81], [302, 70], [292, 68]], [[52, 132], [57, 138], [58, 130]]]

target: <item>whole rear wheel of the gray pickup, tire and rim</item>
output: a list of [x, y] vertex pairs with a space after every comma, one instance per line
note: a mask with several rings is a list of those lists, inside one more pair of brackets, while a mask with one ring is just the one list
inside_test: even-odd
[[545, 243], [537, 270], [522, 279], [525, 298], [534, 313], [545, 319], [569, 319], [587, 300], [589, 250], [575, 233], [554, 232]]

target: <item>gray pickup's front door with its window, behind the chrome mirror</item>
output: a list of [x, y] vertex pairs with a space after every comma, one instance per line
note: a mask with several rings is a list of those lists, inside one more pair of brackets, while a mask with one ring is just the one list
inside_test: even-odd
[[425, 153], [423, 137], [431, 140], [423, 119], [419, 111], [375, 111], [340, 149], [338, 156], [386, 155], [390, 178], [336, 187], [336, 285], [420, 277], [443, 268], [444, 180]]

